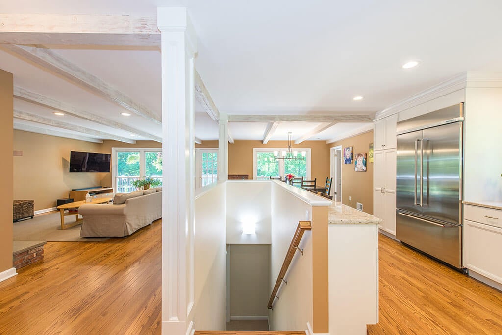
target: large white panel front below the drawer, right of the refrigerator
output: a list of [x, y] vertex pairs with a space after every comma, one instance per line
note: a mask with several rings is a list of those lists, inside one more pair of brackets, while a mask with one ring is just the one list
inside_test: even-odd
[[463, 265], [502, 283], [502, 228], [464, 220]]

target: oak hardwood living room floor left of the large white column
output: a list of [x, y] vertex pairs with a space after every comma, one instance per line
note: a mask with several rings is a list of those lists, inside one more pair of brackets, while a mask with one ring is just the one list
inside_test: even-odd
[[160, 334], [161, 230], [47, 243], [43, 261], [0, 283], [0, 334]]

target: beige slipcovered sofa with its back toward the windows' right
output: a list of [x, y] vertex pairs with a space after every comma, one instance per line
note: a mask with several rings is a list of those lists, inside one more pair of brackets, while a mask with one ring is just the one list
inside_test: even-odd
[[[153, 191], [153, 190], [151, 190]], [[84, 204], [78, 209], [82, 215], [80, 236], [128, 236], [153, 221], [162, 218], [162, 188], [159, 192], [127, 199], [123, 204]], [[137, 191], [136, 194], [141, 191]], [[114, 202], [120, 197], [131, 194], [117, 194]], [[141, 194], [141, 193], [140, 193]]]

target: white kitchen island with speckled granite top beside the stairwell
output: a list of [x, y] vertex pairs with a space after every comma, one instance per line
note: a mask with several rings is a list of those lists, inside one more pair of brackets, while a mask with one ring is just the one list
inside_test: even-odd
[[340, 203], [328, 208], [330, 334], [365, 334], [378, 322], [381, 222]]

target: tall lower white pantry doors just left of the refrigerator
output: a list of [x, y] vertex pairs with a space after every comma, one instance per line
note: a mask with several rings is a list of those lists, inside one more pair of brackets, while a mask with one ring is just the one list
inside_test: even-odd
[[373, 152], [373, 216], [396, 235], [396, 149]]

